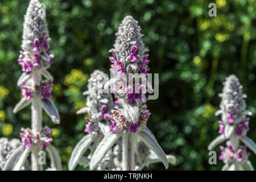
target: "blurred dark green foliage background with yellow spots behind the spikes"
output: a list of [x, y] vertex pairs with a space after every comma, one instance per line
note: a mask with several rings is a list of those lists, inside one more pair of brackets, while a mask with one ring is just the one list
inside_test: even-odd
[[[30, 127], [30, 108], [13, 114], [20, 99], [16, 81], [21, 75], [18, 56], [23, 17], [29, 1], [0, 1], [0, 137], [19, 138], [20, 127]], [[256, 141], [256, 1], [61, 1], [42, 0], [55, 55], [49, 72], [55, 78], [53, 101], [61, 124], [44, 113], [53, 127], [53, 145], [63, 169], [75, 144], [85, 135], [85, 121], [76, 111], [85, 105], [86, 82], [94, 69], [109, 74], [110, 54], [118, 24], [125, 15], [138, 20], [150, 49], [150, 73], [159, 73], [158, 100], [150, 100], [148, 126], [167, 154], [177, 157], [169, 170], [219, 170], [210, 166], [207, 146], [218, 135], [218, 109], [225, 77], [235, 74], [253, 112], [249, 137]], [[210, 2], [217, 17], [208, 16]], [[217, 154], [220, 150], [216, 147]], [[256, 167], [256, 156], [250, 160]], [[77, 167], [76, 169], [82, 169]], [[163, 170], [162, 164], [148, 167]]]

